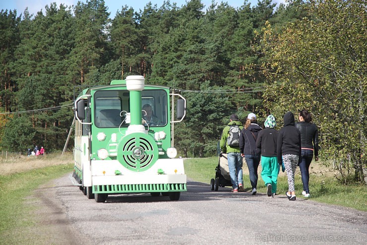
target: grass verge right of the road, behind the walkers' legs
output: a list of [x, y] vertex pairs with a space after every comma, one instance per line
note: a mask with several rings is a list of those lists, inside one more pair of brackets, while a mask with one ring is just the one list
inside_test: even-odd
[[[215, 177], [215, 167], [218, 164], [218, 158], [185, 159], [183, 163], [188, 178], [209, 184], [210, 179]], [[246, 191], [250, 191], [248, 174], [244, 174], [244, 186], [245, 188], [247, 187], [245, 189]], [[303, 185], [299, 168], [296, 170], [295, 187], [296, 195], [302, 196]], [[309, 189], [312, 195], [310, 199], [313, 201], [367, 211], [366, 185], [341, 185], [333, 176], [310, 173]], [[286, 191], [288, 191], [287, 176], [280, 174], [278, 176], [277, 193], [279, 195], [285, 195]], [[258, 173], [257, 192], [266, 193], [260, 171]]]

